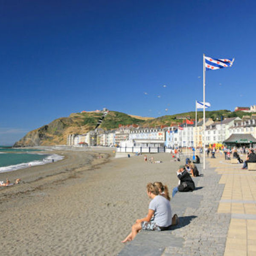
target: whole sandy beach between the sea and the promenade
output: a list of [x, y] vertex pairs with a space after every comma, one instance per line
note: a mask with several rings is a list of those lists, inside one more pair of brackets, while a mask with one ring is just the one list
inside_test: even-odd
[[[113, 148], [57, 149], [64, 160], [1, 173], [22, 183], [0, 188], [0, 241], [5, 255], [116, 255], [137, 218], [148, 212], [148, 182], [177, 186], [168, 153], [113, 158]], [[102, 156], [102, 157], [99, 157]], [[148, 155], [149, 156], [149, 155]]]

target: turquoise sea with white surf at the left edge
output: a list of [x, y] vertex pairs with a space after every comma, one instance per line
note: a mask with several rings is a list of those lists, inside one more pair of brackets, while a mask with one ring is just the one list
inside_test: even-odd
[[63, 158], [58, 154], [44, 154], [39, 149], [0, 146], [0, 173], [52, 163], [52, 159], [58, 161]]

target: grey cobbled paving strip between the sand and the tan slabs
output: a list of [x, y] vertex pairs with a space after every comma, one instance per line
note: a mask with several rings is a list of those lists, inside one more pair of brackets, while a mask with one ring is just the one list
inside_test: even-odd
[[[207, 166], [208, 167], [208, 166]], [[212, 256], [224, 255], [230, 213], [217, 213], [224, 184], [214, 168], [194, 178], [197, 189], [178, 192], [172, 198], [172, 210], [179, 216], [179, 225], [162, 232], [140, 232], [134, 241], [126, 245], [119, 256]]]

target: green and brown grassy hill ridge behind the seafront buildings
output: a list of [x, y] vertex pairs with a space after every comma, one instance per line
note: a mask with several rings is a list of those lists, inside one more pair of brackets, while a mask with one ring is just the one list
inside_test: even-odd
[[[244, 113], [241, 111], [231, 112], [228, 110], [206, 111], [206, 117], [212, 118], [214, 121], [221, 120], [226, 117], [251, 115], [251, 113]], [[88, 131], [94, 130], [102, 113], [99, 112], [85, 112], [72, 113], [69, 117], [61, 117], [44, 125], [34, 131], [30, 131], [21, 140], [15, 143], [15, 147], [23, 146], [38, 146], [38, 145], [65, 145], [68, 134], [85, 134]], [[109, 111], [105, 116], [99, 128], [104, 130], [111, 130], [118, 128], [119, 124], [131, 125], [137, 124], [142, 127], [155, 127], [160, 125], [171, 125], [181, 122], [177, 116], [189, 116], [195, 118], [195, 112], [179, 113], [170, 116], [160, 116], [154, 119], [148, 119], [130, 116], [125, 113], [117, 111]], [[198, 119], [203, 117], [203, 111], [198, 111]]]

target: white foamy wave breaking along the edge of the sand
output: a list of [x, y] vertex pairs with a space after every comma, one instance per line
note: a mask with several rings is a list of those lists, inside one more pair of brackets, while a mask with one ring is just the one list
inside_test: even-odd
[[44, 165], [47, 163], [52, 163], [52, 160], [54, 160], [54, 162], [57, 162], [59, 160], [62, 160], [63, 158], [64, 158], [64, 156], [60, 156], [58, 154], [52, 154], [52, 155], [45, 157], [43, 160], [35, 160], [35, 161], [28, 162], [28, 163], [19, 163], [16, 165], [0, 167], [0, 173], [1, 172], [12, 172], [12, 171], [15, 171], [18, 169], [24, 169], [24, 168], [28, 168], [31, 166]]

